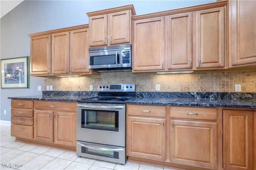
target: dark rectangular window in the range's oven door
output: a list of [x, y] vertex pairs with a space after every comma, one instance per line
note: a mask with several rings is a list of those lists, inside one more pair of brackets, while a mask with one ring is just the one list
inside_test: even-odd
[[118, 132], [118, 111], [82, 109], [81, 127]]

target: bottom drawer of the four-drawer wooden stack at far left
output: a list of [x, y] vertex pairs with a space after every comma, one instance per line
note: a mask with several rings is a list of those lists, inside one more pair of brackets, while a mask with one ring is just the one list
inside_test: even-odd
[[11, 124], [11, 136], [33, 139], [33, 126]]

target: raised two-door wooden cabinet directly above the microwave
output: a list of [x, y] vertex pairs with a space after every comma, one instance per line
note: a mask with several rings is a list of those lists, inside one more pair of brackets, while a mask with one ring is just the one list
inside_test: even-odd
[[89, 17], [89, 45], [105, 46], [131, 42], [133, 5], [86, 13]]

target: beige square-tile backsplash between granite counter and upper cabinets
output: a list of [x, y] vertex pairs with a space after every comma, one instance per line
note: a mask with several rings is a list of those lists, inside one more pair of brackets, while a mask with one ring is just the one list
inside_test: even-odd
[[182, 74], [133, 74], [132, 72], [100, 73], [98, 76], [45, 77], [46, 86], [55, 91], [97, 91], [98, 84], [135, 83], [137, 92], [234, 92], [234, 85], [241, 84], [242, 92], [256, 92], [254, 71], [210, 71]]

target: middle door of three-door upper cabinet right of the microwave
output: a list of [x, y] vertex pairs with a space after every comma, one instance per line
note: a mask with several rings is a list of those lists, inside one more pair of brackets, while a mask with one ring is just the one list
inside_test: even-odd
[[168, 69], [192, 68], [192, 12], [168, 16]]

